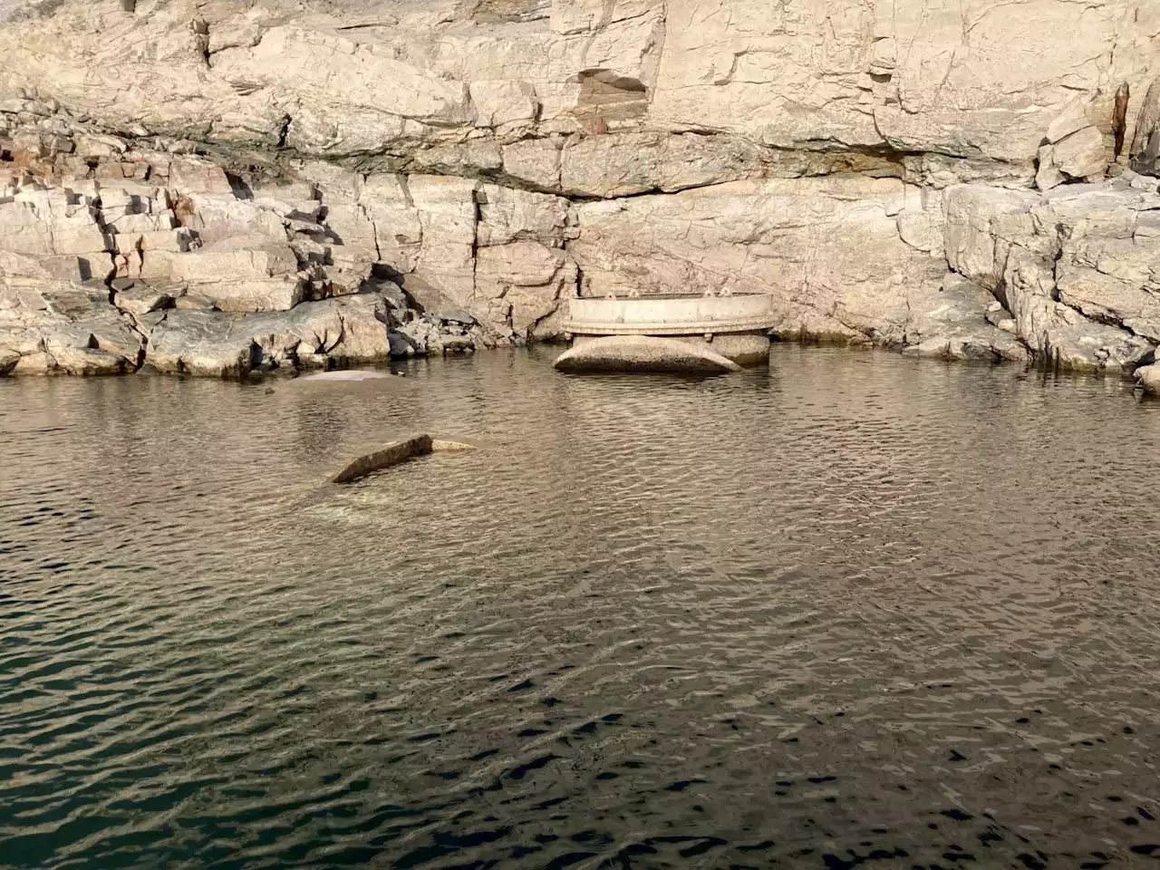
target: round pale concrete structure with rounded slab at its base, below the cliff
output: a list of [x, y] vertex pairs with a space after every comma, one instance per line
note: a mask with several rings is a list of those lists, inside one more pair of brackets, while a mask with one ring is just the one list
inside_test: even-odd
[[[573, 348], [556, 365], [575, 371], [590, 360], [595, 368], [608, 370], [615, 368], [618, 347], [625, 370], [703, 371], [706, 360], [715, 357], [723, 363], [761, 364], [769, 356], [768, 331], [774, 324], [773, 297], [764, 293], [575, 298], [568, 300], [561, 325]], [[621, 342], [610, 340], [617, 336]], [[585, 348], [597, 339], [599, 349]], [[648, 351], [652, 339], [658, 340], [652, 342], [655, 353]], [[680, 353], [681, 345], [687, 353]]]

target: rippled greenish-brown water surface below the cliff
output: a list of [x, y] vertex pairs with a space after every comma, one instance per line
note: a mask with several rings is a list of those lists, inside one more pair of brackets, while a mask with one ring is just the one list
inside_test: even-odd
[[0, 382], [0, 865], [1155, 865], [1160, 404], [550, 358]]

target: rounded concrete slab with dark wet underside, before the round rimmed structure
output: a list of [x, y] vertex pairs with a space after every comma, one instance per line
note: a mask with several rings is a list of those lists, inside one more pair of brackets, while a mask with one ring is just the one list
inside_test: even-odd
[[560, 371], [654, 371], [716, 375], [740, 371], [709, 345], [651, 335], [609, 335], [578, 342], [557, 357]]

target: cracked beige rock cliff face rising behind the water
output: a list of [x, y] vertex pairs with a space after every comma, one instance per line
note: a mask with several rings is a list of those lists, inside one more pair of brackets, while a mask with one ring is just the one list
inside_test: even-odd
[[546, 339], [757, 291], [785, 338], [1131, 370], [1152, 0], [7, 0], [0, 371]]

